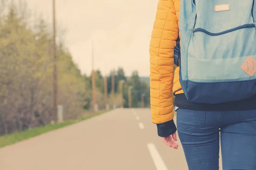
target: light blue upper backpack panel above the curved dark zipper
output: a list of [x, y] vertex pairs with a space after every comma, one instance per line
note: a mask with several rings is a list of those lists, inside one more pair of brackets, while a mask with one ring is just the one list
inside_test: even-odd
[[254, 1], [195, 0], [197, 13], [195, 28], [219, 33], [239, 26], [253, 24], [256, 22], [253, 12], [255, 8]]

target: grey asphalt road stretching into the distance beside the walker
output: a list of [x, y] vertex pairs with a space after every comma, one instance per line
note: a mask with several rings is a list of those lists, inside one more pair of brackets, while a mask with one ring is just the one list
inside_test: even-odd
[[150, 109], [116, 109], [0, 149], [0, 170], [188, 170]]

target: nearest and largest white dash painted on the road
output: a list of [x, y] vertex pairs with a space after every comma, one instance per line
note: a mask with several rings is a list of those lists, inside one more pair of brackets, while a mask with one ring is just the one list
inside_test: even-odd
[[162, 157], [158, 153], [155, 145], [152, 143], [148, 143], [147, 145], [148, 145], [149, 153], [154, 161], [154, 165], [156, 166], [157, 170], [168, 170], [168, 168], [166, 167], [166, 164], [163, 162]]

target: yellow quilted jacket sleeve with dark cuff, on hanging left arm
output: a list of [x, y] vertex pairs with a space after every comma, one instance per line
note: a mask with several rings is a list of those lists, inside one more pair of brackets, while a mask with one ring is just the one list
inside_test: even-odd
[[175, 133], [173, 122], [174, 46], [179, 36], [173, 0], [159, 0], [150, 42], [151, 119], [158, 135]]

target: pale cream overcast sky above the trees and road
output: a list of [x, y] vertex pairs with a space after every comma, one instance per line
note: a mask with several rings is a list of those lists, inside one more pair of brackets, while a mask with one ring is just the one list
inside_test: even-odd
[[[27, 0], [28, 6], [52, 24], [52, 0]], [[119, 66], [149, 76], [149, 42], [157, 0], [56, 0], [57, 25], [66, 30], [66, 46], [82, 73], [103, 74]]]

